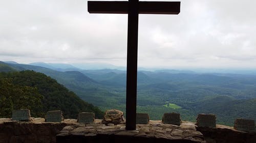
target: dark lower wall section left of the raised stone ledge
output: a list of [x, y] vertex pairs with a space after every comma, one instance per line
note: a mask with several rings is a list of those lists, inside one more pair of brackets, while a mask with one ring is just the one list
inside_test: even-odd
[[42, 120], [44, 119], [32, 122], [0, 120], [0, 143], [52, 143], [56, 142], [56, 134], [63, 127], [72, 125], [69, 122], [47, 123]]

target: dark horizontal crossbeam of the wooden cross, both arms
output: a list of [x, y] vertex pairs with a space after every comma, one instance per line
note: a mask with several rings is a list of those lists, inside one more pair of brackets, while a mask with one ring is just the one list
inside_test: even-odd
[[[127, 14], [128, 2], [88, 1], [89, 13]], [[139, 2], [139, 14], [179, 14], [180, 2]]]

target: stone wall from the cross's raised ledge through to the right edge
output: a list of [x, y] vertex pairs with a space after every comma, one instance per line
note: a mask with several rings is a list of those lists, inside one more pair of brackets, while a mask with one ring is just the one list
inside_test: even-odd
[[182, 121], [180, 126], [150, 121], [137, 124], [136, 131], [126, 131], [124, 124], [119, 125], [72, 125], [63, 128], [57, 135], [57, 143], [157, 143], [157, 142], [197, 142], [197, 143], [252, 143], [256, 132], [244, 132], [224, 125], [216, 128], [197, 127], [195, 123]]

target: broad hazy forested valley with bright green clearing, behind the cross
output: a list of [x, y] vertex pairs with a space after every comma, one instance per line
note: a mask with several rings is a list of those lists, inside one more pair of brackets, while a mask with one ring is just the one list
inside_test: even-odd
[[[115, 98], [101, 108], [125, 108], [125, 74], [113, 71], [84, 74], [111, 85]], [[214, 113], [217, 123], [232, 126], [234, 119], [256, 119], [256, 76], [191, 71], [139, 71], [137, 111], [161, 120], [164, 112], [179, 112], [182, 120], [196, 121], [198, 113]], [[111, 104], [110, 104], [111, 103]]]

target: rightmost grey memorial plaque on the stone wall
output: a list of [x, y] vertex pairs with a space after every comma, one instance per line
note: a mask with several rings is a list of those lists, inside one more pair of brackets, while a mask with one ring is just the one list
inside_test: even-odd
[[234, 129], [239, 131], [255, 131], [254, 120], [236, 119], [234, 121]]

